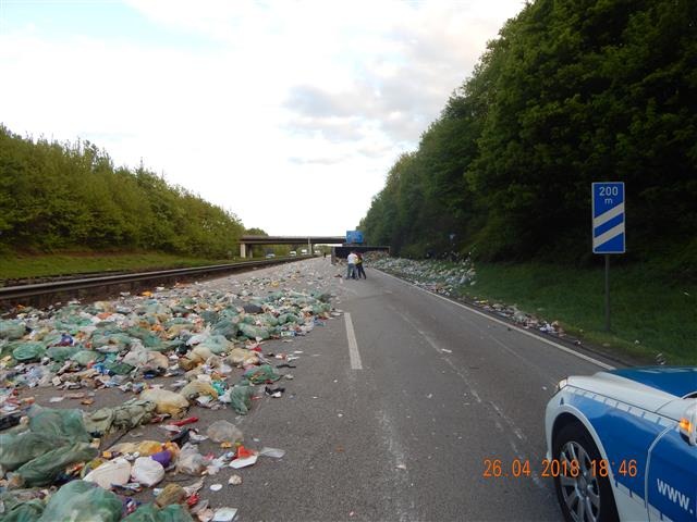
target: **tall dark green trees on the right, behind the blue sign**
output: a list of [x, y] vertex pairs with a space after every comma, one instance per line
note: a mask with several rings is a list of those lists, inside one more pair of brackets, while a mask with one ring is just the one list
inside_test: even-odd
[[421, 257], [587, 263], [590, 184], [626, 188], [625, 260], [697, 260], [697, 2], [537, 0], [506, 22], [360, 223]]

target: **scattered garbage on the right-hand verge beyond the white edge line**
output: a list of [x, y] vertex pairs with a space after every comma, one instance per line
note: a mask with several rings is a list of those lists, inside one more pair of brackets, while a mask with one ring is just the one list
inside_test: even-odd
[[[411, 260], [389, 258], [384, 252], [370, 252], [367, 256], [370, 264], [376, 269], [396, 275], [427, 290], [448, 297], [462, 298], [464, 286], [476, 284], [476, 271], [472, 259], [461, 262], [444, 262], [436, 260]], [[548, 322], [534, 314], [526, 313], [515, 304], [489, 302], [486, 299], [475, 299], [472, 304], [488, 312], [509, 319], [528, 330], [537, 330], [545, 334], [563, 337], [565, 335], [559, 321]]]

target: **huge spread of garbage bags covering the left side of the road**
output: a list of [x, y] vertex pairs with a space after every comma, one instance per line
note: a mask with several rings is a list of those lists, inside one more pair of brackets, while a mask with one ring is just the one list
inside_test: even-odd
[[[0, 319], [0, 522], [86, 520], [81, 513], [95, 522], [232, 521], [235, 508], [201, 499], [201, 477], [284, 451], [245, 446], [227, 420], [197, 428], [192, 408], [246, 414], [255, 398], [282, 397], [278, 382], [293, 378], [282, 370], [295, 368], [302, 351], [265, 353], [264, 341], [290, 343], [341, 314], [328, 294], [281, 283], [253, 277], [236, 293], [158, 288]], [[37, 387], [62, 394], [49, 402], [91, 405], [103, 388], [125, 398], [89, 412], [56, 409], [24, 397]], [[118, 442], [150, 423], [167, 438]], [[199, 452], [207, 439], [219, 455]], [[191, 484], [170, 482], [181, 475]], [[229, 480], [241, 483], [239, 474]], [[145, 488], [155, 488], [152, 502], [133, 497]]]

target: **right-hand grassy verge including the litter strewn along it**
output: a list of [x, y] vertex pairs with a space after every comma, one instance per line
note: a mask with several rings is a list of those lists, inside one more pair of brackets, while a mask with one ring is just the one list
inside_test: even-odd
[[626, 363], [697, 364], [697, 284], [676, 283], [661, 266], [611, 271], [608, 332], [602, 266], [379, 256], [368, 265]]

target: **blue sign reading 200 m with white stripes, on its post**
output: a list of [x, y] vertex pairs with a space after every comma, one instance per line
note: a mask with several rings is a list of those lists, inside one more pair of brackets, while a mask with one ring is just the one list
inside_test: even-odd
[[606, 256], [606, 331], [610, 332], [610, 254], [624, 253], [624, 183], [592, 184], [592, 253]]

